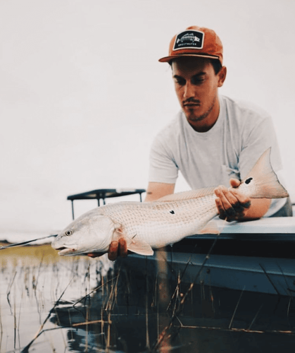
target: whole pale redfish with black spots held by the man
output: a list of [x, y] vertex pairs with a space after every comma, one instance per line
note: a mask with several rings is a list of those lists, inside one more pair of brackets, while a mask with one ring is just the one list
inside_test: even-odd
[[[106, 253], [111, 241], [124, 237], [127, 249], [153, 255], [153, 249], [192, 234], [208, 232], [216, 215], [213, 188], [174, 193], [153, 202], [120, 202], [94, 208], [74, 220], [51, 244], [61, 256]], [[250, 198], [285, 198], [270, 164], [270, 148], [237, 188]]]

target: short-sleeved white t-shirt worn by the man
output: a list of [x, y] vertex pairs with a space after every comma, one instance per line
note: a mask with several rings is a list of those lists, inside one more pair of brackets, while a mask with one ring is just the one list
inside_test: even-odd
[[[181, 111], [158, 133], [151, 146], [150, 182], [175, 184], [180, 171], [192, 189], [230, 186], [230, 178], [244, 179], [269, 147], [272, 168], [275, 172], [282, 169], [270, 115], [248, 102], [225, 96], [219, 100], [220, 114], [209, 131], [195, 131]], [[265, 216], [280, 210], [285, 202], [272, 200]]]

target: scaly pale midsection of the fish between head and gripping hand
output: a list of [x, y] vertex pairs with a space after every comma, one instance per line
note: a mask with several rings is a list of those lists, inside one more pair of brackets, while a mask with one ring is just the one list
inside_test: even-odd
[[208, 195], [184, 201], [117, 203], [100, 210], [121, 225], [126, 237], [137, 237], [156, 249], [196, 234], [217, 215], [214, 200], [214, 195]]

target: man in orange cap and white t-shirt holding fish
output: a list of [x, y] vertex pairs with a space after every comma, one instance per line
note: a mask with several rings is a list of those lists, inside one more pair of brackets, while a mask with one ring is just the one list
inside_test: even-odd
[[[192, 189], [220, 185], [215, 203], [227, 221], [291, 215], [289, 200], [250, 199], [236, 190], [267, 148], [276, 172], [282, 163], [270, 116], [218, 95], [227, 74], [222, 52], [213, 30], [192, 26], [172, 38], [169, 55], [159, 60], [172, 68], [182, 111], [153, 141], [145, 201], [174, 193], [180, 171]], [[127, 254], [124, 239], [111, 244], [108, 257], [118, 254]]]

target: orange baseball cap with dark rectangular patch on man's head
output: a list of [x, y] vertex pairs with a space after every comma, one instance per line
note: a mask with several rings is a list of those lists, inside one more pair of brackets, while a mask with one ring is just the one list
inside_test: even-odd
[[159, 61], [167, 63], [183, 56], [203, 56], [218, 59], [222, 64], [222, 53], [222, 42], [213, 30], [192, 25], [172, 38], [169, 55]]

